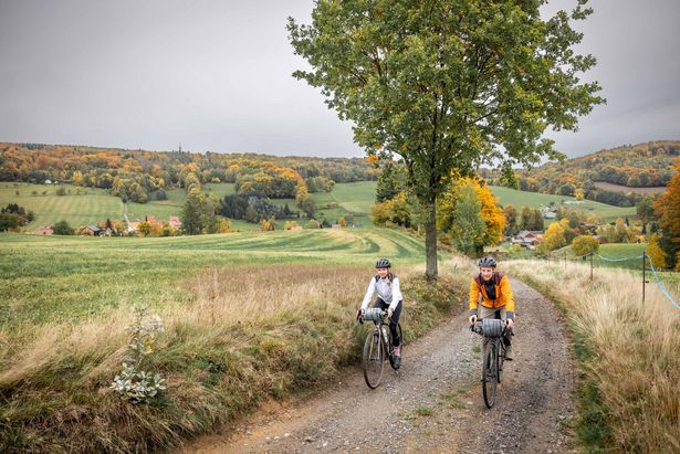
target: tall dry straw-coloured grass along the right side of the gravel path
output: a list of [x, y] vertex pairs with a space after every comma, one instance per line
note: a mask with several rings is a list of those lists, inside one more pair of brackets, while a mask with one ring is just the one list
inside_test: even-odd
[[[680, 452], [680, 310], [624, 270], [508, 262], [568, 309], [593, 357], [586, 373], [606, 407], [617, 450]], [[680, 295], [680, 288], [671, 288]]]

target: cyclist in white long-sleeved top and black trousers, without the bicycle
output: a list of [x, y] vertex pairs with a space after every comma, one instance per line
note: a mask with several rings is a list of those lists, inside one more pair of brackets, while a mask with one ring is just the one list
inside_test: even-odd
[[397, 324], [401, 315], [404, 298], [399, 289], [399, 278], [395, 274], [391, 274], [390, 267], [391, 265], [387, 258], [380, 258], [376, 263], [376, 275], [370, 278], [368, 289], [362, 302], [362, 308], [357, 312], [356, 318], [358, 320], [363, 317], [364, 310], [366, 310], [368, 303], [370, 303], [370, 298], [377, 292], [378, 297], [373, 307], [379, 307], [383, 310], [387, 309], [389, 330], [391, 331], [394, 344], [393, 355], [395, 357], [395, 369], [398, 369], [401, 365], [401, 339], [399, 339]]

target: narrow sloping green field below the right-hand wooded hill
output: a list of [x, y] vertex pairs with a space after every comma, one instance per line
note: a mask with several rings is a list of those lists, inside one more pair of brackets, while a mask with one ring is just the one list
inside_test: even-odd
[[555, 208], [565, 207], [574, 210], [580, 210], [586, 213], [594, 213], [598, 218], [603, 218], [606, 220], [616, 220], [617, 218], [625, 217], [636, 217], [635, 207], [613, 207], [605, 203], [594, 202], [592, 200], [583, 200], [583, 203], [566, 203], [577, 202], [577, 200], [574, 197], [517, 191], [515, 189], [504, 188], [500, 186], [492, 186], [490, 188], [491, 192], [493, 192], [493, 194], [499, 198], [501, 204], [512, 204], [517, 209], [517, 211], [520, 211], [522, 207], [541, 208], [547, 207], [551, 202], [553, 202]]

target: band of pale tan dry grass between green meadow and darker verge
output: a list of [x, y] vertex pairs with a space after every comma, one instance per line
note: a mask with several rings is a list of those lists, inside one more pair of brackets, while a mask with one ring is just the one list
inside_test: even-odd
[[[357, 266], [239, 266], [213, 268], [187, 279], [182, 285], [193, 294], [186, 305], [167, 305], [155, 313], [164, 319], [166, 331], [197, 326], [209, 340], [220, 330], [239, 324], [258, 324], [283, 313], [303, 313], [310, 305], [358, 306], [366, 289], [370, 268]], [[153, 302], [136, 302], [151, 304]], [[24, 346], [7, 345], [0, 387], [28, 380], [41, 369], [54, 366], [63, 357], [109, 358], [96, 365], [100, 372], [119, 367], [126, 348], [125, 328], [130, 323], [130, 304], [107, 315], [77, 324], [43, 326], [27, 336]], [[170, 341], [168, 336], [161, 344]], [[116, 355], [116, 352], [118, 355]], [[112, 369], [105, 368], [108, 365]]]

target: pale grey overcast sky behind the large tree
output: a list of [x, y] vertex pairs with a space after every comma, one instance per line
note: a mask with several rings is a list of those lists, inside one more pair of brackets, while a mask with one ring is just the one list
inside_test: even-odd
[[[572, 1], [554, 0], [564, 7]], [[578, 156], [680, 139], [680, 1], [595, 0], [579, 25], [606, 106], [578, 133]], [[313, 2], [0, 0], [0, 141], [363, 156], [352, 128], [291, 73], [289, 15]], [[556, 7], [548, 6], [550, 10]]]

